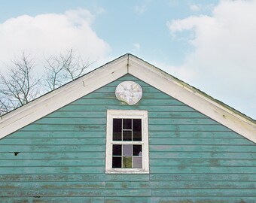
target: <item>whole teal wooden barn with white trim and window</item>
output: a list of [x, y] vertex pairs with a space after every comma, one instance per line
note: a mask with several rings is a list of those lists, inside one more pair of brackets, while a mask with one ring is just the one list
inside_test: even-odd
[[256, 202], [256, 122], [131, 54], [0, 120], [1, 202]]

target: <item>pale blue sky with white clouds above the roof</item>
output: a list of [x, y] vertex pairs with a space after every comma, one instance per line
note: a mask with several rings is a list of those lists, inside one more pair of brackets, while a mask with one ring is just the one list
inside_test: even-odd
[[256, 120], [255, 11], [256, 0], [0, 0], [0, 72], [23, 52], [72, 48], [91, 68], [132, 53]]

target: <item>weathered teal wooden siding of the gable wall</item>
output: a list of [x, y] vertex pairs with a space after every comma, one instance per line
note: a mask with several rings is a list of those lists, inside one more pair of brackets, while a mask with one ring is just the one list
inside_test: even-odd
[[[115, 98], [122, 80], [139, 104]], [[150, 174], [105, 174], [107, 109], [148, 110]], [[255, 202], [255, 188], [254, 143], [130, 75], [0, 140], [0, 202]]]

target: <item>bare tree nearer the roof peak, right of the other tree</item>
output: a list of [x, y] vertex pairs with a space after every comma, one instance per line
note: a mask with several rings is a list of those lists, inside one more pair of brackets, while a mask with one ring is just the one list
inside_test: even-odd
[[81, 77], [93, 62], [75, 56], [73, 49], [59, 56], [50, 56], [44, 67], [47, 70], [44, 84], [48, 90], [53, 90], [69, 81]]

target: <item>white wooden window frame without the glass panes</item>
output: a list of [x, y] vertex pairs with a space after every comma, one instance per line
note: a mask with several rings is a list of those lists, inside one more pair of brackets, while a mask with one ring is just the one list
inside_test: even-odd
[[[142, 119], [142, 141], [112, 141], [113, 119]], [[148, 174], [148, 111], [108, 110], [106, 131], [106, 174]], [[142, 144], [142, 168], [112, 168], [112, 144]]]

